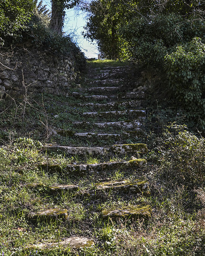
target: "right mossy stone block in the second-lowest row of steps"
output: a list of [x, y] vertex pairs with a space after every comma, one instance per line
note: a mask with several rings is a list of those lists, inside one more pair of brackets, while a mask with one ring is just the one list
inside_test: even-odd
[[150, 206], [128, 206], [124, 209], [115, 208], [115, 209], [105, 209], [102, 210], [102, 218], [104, 219], [149, 219], [151, 216]]

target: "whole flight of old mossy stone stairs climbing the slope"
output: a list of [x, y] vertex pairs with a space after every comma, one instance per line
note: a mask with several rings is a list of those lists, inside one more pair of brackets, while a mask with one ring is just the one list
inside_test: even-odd
[[[146, 144], [139, 142], [143, 134], [143, 121], [146, 111], [142, 108], [143, 92], [133, 91], [132, 84], [127, 83], [130, 67], [108, 67], [90, 70], [85, 86], [78, 86], [71, 97], [81, 99], [76, 103], [86, 111], [79, 120], [72, 122], [72, 129], [57, 130], [60, 136], [72, 138], [69, 146], [47, 145], [44, 151], [58, 152], [66, 156], [97, 157], [96, 163], [83, 160], [62, 165], [40, 163], [38, 168], [44, 173], [66, 175], [72, 177], [73, 184], [28, 184], [31, 189], [41, 188], [48, 195], [76, 193], [82, 202], [89, 198], [92, 204], [106, 202], [108, 195], [125, 196], [125, 206], [108, 206], [98, 211], [99, 218], [104, 221], [112, 219], [148, 219], [151, 215], [149, 205], [132, 204], [133, 198], [149, 195], [148, 182], [142, 178], [146, 171], [146, 160], [140, 158], [148, 152]], [[76, 142], [75, 142], [76, 140]], [[88, 143], [89, 142], [89, 143]], [[92, 146], [92, 144], [94, 144]], [[110, 159], [108, 161], [108, 159]], [[116, 173], [123, 173], [117, 177]], [[89, 177], [94, 175], [94, 184], [88, 187], [80, 186], [81, 177], [89, 183]], [[131, 203], [129, 201], [131, 199]], [[95, 207], [97, 208], [97, 207]], [[66, 208], [46, 208], [30, 215], [33, 223], [43, 221], [66, 221], [69, 211]], [[71, 236], [60, 242], [62, 246], [80, 248], [93, 246], [94, 240], [88, 237]], [[41, 243], [27, 246], [25, 249], [48, 249], [57, 247], [57, 243]]]

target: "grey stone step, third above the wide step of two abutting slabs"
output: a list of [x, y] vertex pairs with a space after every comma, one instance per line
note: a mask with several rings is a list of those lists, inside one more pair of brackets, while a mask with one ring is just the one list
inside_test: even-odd
[[116, 117], [145, 117], [145, 110], [125, 110], [125, 111], [106, 111], [106, 112], [84, 112], [85, 117], [106, 117], [106, 118], [116, 118]]

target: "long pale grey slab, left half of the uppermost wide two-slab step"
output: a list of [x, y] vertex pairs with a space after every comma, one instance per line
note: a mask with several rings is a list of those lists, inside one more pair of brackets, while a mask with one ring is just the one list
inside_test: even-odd
[[45, 146], [48, 151], [62, 151], [68, 155], [104, 155], [108, 147]]

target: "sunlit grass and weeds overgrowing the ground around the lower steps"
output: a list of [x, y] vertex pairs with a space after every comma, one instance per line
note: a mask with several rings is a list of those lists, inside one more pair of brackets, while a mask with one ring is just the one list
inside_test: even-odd
[[[119, 66], [119, 62], [115, 64]], [[96, 65], [94, 63], [93, 67]], [[101, 67], [106, 65], [108, 61], [101, 61]], [[70, 163], [92, 164], [122, 158], [117, 155], [111, 158], [107, 155], [102, 159], [98, 156], [71, 157], [44, 151], [41, 143], [71, 145], [69, 135], [63, 141], [63, 136], [52, 134], [52, 131], [57, 127], [81, 131], [81, 127], [71, 126], [71, 122], [82, 121], [82, 113], [88, 109], [76, 106], [82, 99], [74, 99], [71, 93], [69, 97], [47, 94], [30, 96], [27, 100], [26, 109], [23, 100], [7, 99], [1, 103], [1, 130], [4, 131], [0, 151], [3, 170], [0, 175], [1, 254], [203, 255], [205, 141], [200, 134], [193, 134], [182, 125], [183, 112], [176, 113], [175, 118], [174, 110], [159, 108], [158, 112], [156, 110], [147, 117], [144, 142], [148, 144], [149, 153], [145, 169], [132, 173], [119, 169], [79, 177], [63, 171], [52, 174], [38, 166], [42, 162], [60, 164], [63, 170]], [[176, 122], [170, 124], [174, 119]], [[12, 130], [9, 129], [11, 126]], [[78, 146], [87, 146], [88, 143], [76, 141]], [[99, 145], [100, 139], [95, 143]], [[124, 160], [130, 160], [130, 157], [126, 155]], [[150, 194], [132, 195], [111, 190], [95, 195], [95, 183], [105, 179], [144, 180], [149, 183]], [[50, 186], [57, 184], [76, 184], [79, 189], [54, 194]], [[102, 209], [124, 208], [141, 202], [149, 204], [152, 209], [149, 220], [106, 221], [101, 218]], [[30, 221], [32, 212], [54, 207], [68, 209], [69, 218], [38, 224]], [[95, 246], [75, 251], [70, 248], [23, 250], [25, 245], [58, 242], [71, 235], [93, 238]]]

